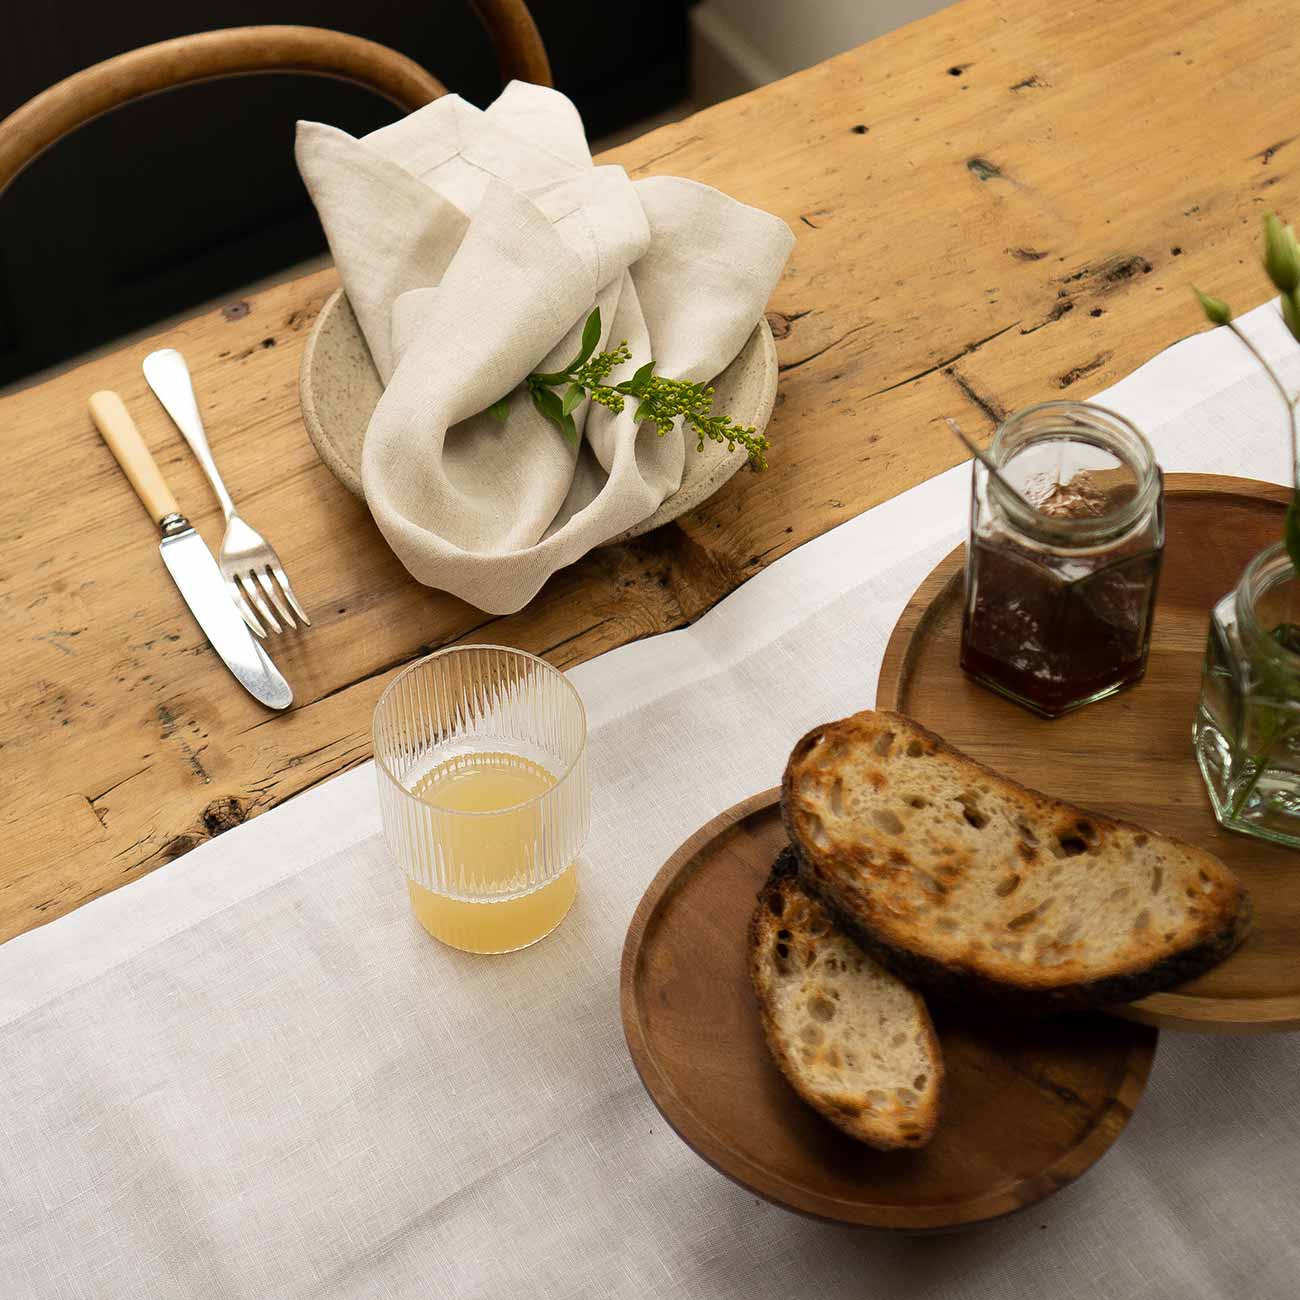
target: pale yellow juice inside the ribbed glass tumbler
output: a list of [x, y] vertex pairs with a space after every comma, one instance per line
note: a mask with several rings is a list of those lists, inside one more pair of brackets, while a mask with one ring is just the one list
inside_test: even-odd
[[[450, 861], [473, 871], [474, 892], [508, 889], [526, 863], [526, 846], [541, 831], [536, 800], [555, 784], [545, 767], [517, 754], [463, 754], [426, 772], [411, 793], [430, 807], [495, 816], [439, 819], [438, 837]], [[526, 948], [563, 919], [577, 892], [569, 866], [538, 889], [498, 902], [448, 898], [407, 878], [416, 919], [434, 939], [469, 953], [507, 953]]]

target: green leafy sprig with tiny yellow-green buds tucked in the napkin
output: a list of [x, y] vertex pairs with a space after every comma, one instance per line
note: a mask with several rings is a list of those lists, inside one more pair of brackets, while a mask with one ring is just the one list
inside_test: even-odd
[[[654, 373], [653, 360], [638, 367], [630, 380], [607, 384], [618, 367], [632, 360], [632, 352], [627, 339], [611, 352], [597, 352], [595, 344], [599, 341], [601, 308], [597, 307], [582, 326], [582, 346], [577, 356], [563, 370], [534, 372], [525, 381], [533, 406], [568, 442], [577, 443], [573, 411], [585, 398], [598, 402], [615, 415], [632, 398], [637, 403], [637, 422], [653, 422], [660, 438], [680, 416], [682, 428], [696, 437], [697, 451], [705, 450], [705, 438], [725, 442], [728, 451], [744, 447], [755, 469], [767, 468], [767, 450], [771, 446], [767, 438], [751, 425], [733, 424], [731, 416], [714, 415], [714, 390], [710, 385], [666, 380]], [[510, 419], [510, 398], [494, 402], [489, 410], [504, 422]]]

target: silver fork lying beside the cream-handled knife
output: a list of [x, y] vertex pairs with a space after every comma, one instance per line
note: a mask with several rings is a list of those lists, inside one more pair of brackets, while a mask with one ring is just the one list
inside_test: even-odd
[[[221, 481], [217, 463], [212, 459], [212, 448], [208, 446], [208, 436], [203, 432], [199, 403], [194, 395], [194, 384], [185, 358], [174, 347], [164, 347], [144, 358], [143, 369], [153, 395], [166, 408], [166, 413], [172, 416], [185, 441], [190, 443], [190, 450], [198, 456], [221, 503], [221, 512], [226, 516], [226, 536], [221, 541], [217, 563], [221, 567], [221, 576], [226, 580], [230, 599], [235, 602], [235, 608], [243, 615], [244, 623], [259, 637], [265, 637], [266, 628], [263, 627], [263, 620], [272, 632], [281, 632], [298, 627], [294, 621], [296, 614], [303, 625], [309, 628], [312, 620], [298, 603], [274, 547], [239, 517], [230, 493]], [[281, 620], [285, 623], [283, 629]]]

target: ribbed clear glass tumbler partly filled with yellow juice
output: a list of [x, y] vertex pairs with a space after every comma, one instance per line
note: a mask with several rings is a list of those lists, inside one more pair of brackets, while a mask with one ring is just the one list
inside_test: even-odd
[[456, 646], [404, 668], [374, 707], [389, 852], [434, 939], [536, 944], [566, 916], [592, 820], [586, 712], [521, 650]]

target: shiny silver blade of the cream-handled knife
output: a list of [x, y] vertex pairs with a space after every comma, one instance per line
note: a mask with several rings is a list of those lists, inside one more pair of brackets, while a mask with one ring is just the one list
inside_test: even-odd
[[159, 550], [195, 621], [239, 685], [268, 708], [287, 708], [294, 702], [289, 682], [239, 616], [212, 551], [183, 515], [164, 520]]

